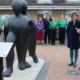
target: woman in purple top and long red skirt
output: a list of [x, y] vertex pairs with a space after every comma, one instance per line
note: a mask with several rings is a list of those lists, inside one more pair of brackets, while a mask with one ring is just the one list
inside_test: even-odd
[[42, 18], [39, 18], [39, 21], [36, 23], [37, 27], [37, 40], [38, 43], [41, 44], [41, 41], [44, 40], [44, 23], [42, 21]]

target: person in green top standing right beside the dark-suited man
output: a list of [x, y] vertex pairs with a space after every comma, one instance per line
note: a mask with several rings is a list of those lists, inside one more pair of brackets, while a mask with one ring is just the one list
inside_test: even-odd
[[55, 39], [56, 39], [56, 27], [57, 22], [55, 21], [55, 18], [52, 18], [52, 21], [49, 23], [50, 33], [51, 33], [51, 44], [55, 45]]

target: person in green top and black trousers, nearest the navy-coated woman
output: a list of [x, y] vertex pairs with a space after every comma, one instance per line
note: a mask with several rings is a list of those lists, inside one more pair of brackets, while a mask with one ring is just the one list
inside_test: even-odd
[[64, 18], [63, 15], [61, 15], [61, 19], [58, 20], [58, 26], [59, 26], [59, 41], [60, 44], [65, 44], [65, 31], [67, 26], [67, 20]]

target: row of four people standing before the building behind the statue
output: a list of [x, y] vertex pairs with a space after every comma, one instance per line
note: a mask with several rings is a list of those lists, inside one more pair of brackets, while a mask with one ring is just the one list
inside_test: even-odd
[[36, 23], [37, 27], [37, 40], [38, 43], [44, 41], [44, 43], [55, 45], [56, 32], [59, 29], [59, 42], [60, 44], [65, 44], [65, 31], [67, 27], [67, 20], [64, 18], [64, 15], [61, 15], [61, 19], [56, 22], [55, 17], [52, 19], [46, 15], [46, 18], [39, 18], [39, 21]]

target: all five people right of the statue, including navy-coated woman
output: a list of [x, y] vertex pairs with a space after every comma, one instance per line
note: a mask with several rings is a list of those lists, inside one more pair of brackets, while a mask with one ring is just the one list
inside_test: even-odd
[[[39, 18], [36, 23], [37, 26], [37, 40], [55, 45], [56, 39], [56, 29], [59, 28], [59, 41], [60, 44], [65, 44], [65, 33], [67, 33], [67, 47], [70, 49], [70, 63], [68, 66], [76, 67], [78, 59], [78, 50], [80, 48], [80, 21], [78, 20], [78, 14], [76, 12], [72, 13], [71, 21], [67, 23], [64, 16], [58, 22], [55, 21], [53, 17], [49, 20], [48, 16], [45, 19]], [[74, 57], [73, 57], [74, 56]]]

